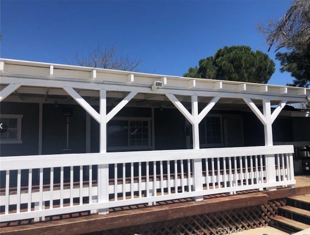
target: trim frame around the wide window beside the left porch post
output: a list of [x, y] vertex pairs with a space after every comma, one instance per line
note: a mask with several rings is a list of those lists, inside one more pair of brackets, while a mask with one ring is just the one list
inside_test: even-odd
[[[109, 142], [109, 135], [107, 134], [107, 150], [109, 151], [124, 151], [124, 150], [148, 150], [152, 149], [152, 140], [151, 140], [151, 122], [152, 118], [146, 118], [146, 117], [113, 117], [112, 120], [125, 120], [125, 121], [148, 121], [148, 128], [149, 128], [149, 144], [148, 145], [135, 145], [135, 146], [108, 146]], [[109, 125], [109, 123], [108, 123]]]

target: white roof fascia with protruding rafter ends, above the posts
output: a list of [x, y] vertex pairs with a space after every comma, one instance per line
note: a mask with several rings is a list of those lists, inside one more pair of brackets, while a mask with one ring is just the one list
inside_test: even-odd
[[[171, 90], [174, 90], [173, 94], [181, 95], [193, 95], [198, 92], [198, 95], [202, 96], [221, 96], [236, 98], [249, 97], [256, 99], [264, 99], [268, 97], [271, 100], [287, 100], [288, 103], [293, 101], [306, 102], [307, 97], [310, 96], [309, 88], [269, 84], [266, 85], [259, 83], [215, 79], [183, 78], [176, 76], [90, 68], [55, 63], [37, 63], [10, 59], [0, 59], [0, 62], [1, 66], [3, 65], [3, 70], [1, 70], [2, 79], [0, 80], [0, 83], [2, 84], [11, 83], [11, 79], [12, 82], [13, 80], [15, 80], [14, 82], [16, 82], [16, 79], [18, 80], [19, 78], [24, 78], [20, 80], [21, 84], [29, 86], [31, 85], [31, 82], [26, 82], [26, 79], [29, 81], [31, 79], [32, 81], [34, 81], [33, 79], [35, 79], [35, 82], [32, 84], [35, 86], [47, 86], [49, 82], [46, 81], [53, 80], [59, 82], [67, 81], [72, 83], [72, 87], [82, 89], [116, 89], [118, 91], [124, 92], [138, 91], [141, 93], [158, 94], [167, 94], [171, 93]], [[193, 83], [193, 79], [195, 80], [195, 86], [189, 85]], [[164, 83], [166, 84], [163, 85], [163, 88], [156, 89], [156, 91], [151, 91], [151, 89], [145, 89], [151, 88], [155, 81], [164, 81]], [[78, 84], [83, 84], [83, 86]], [[103, 84], [106, 85], [103, 86]], [[108, 86], [107, 88], [108, 84], [114, 85], [114, 87]], [[52, 82], [50, 82], [50, 87], [53, 86], [54, 85], [52, 84]], [[68, 84], [64, 84], [63, 86], [68, 86]], [[59, 85], [59, 87], [62, 86]], [[111, 89], [109, 89], [109, 87]], [[133, 89], [133, 87], [136, 87], [136, 89]], [[139, 89], [137, 89], [138, 87]]]

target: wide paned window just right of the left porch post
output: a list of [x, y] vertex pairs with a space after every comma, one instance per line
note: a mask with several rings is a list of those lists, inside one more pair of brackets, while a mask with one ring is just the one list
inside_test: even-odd
[[151, 147], [151, 118], [116, 117], [108, 123], [108, 148], [148, 149]]

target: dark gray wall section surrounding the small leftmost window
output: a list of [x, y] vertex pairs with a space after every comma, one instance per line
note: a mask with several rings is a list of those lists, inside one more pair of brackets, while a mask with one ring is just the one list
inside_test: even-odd
[[23, 114], [23, 143], [0, 144], [0, 156], [36, 155], [39, 141], [39, 104], [1, 102], [1, 114]]

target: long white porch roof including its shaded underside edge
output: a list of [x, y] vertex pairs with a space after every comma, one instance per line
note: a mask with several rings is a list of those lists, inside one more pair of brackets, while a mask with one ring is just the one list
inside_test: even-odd
[[[39, 94], [43, 97], [67, 95], [62, 88], [69, 86], [79, 89], [78, 93], [85, 97], [98, 97], [100, 89], [108, 91], [107, 97], [117, 99], [135, 91], [138, 94], [134, 99], [153, 101], [156, 104], [168, 100], [165, 94], [174, 94], [181, 102], [190, 102], [190, 97], [184, 97], [190, 95], [200, 96], [200, 102], [209, 102], [212, 97], [220, 96], [218, 103], [235, 105], [238, 102], [245, 104], [242, 98], [251, 98], [256, 103], [260, 103], [262, 99], [270, 99], [271, 104], [278, 104], [283, 100], [287, 103], [307, 102], [310, 99], [309, 88], [183, 78], [11, 59], [0, 59], [0, 73], [1, 90], [5, 84], [19, 83], [21, 87], [16, 90], [17, 94]], [[161, 81], [163, 87], [152, 89], [155, 81]]]

